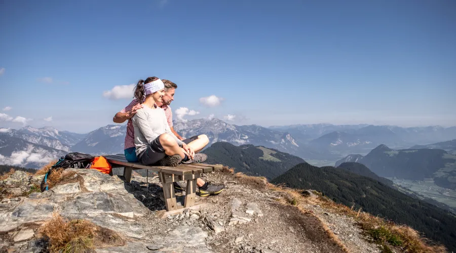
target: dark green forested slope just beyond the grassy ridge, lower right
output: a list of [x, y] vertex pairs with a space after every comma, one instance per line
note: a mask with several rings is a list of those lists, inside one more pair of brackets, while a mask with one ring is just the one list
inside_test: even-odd
[[337, 203], [406, 224], [448, 249], [456, 248], [456, 217], [433, 204], [412, 198], [372, 178], [344, 168], [299, 163], [272, 180], [296, 189], [313, 189]]

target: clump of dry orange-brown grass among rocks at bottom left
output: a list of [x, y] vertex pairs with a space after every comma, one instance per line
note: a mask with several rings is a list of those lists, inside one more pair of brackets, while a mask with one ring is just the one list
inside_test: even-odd
[[109, 229], [86, 220], [65, 220], [58, 214], [43, 225], [41, 233], [49, 240], [50, 252], [93, 252], [96, 247], [125, 243]]

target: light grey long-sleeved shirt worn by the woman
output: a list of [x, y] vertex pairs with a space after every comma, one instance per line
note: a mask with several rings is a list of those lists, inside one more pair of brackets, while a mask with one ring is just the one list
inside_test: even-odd
[[177, 144], [182, 146], [183, 142], [171, 132], [165, 112], [162, 108], [151, 109], [144, 105], [143, 108], [136, 111], [131, 118], [133, 128], [135, 129], [135, 147], [136, 155], [139, 156], [155, 138], [167, 133], [174, 137]]

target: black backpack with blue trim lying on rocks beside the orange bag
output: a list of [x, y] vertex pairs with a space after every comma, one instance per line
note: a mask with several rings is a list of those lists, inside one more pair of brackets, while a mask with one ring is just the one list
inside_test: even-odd
[[48, 173], [46, 173], [41, 182], [41, 191], [44, 192], [48, 190], [48, 177], [57, 168], [90, 168], [94, 159], [95, 157], [93, 155], [79, 152], [68, 153], [65, 156], [60, 157], [60, 159], [52, 165]]

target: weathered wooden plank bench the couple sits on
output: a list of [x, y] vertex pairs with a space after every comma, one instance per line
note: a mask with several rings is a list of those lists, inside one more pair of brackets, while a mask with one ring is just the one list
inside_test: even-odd
[[191, 207], [195, 204], [196, 182], [201, 177], [201, 174], [222, 169], [222, 165], [220, 164], [212, 165], [203, 163], [180, 164], [176, 167], [143, 165], [138, 162], [127, 161], [124, 154], [105, 155], [104, 157], [113, 168], [124, 167], [125, 181], [129, 183], [131, 181], [131, 173], [134, 170], [147, 170], [147, 176], [148, 171], [157, 172], [160, 182], [163, 185], [163, 195], [167, 211], [182, 208], [182, 206], [177, 206], [173, 182], [187, 181], [183, 207]]

